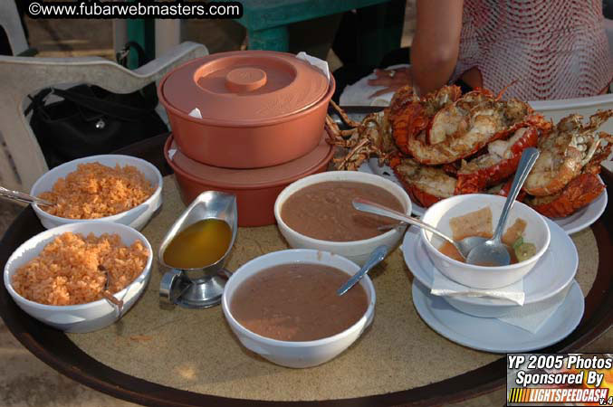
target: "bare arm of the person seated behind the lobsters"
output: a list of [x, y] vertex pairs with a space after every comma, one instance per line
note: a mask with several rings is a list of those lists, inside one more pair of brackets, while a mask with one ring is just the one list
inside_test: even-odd
[[464, 0], [417, 0], [411, 74], [421, 94], [445, 86], [460, 49]]

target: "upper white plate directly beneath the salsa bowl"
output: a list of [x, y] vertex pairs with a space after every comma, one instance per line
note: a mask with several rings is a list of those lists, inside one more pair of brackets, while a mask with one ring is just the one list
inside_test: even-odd
[[[567, 287], [575, 277], [579, 265], [577, 248], [560, 226], [545, 218], [551, 232], [549, 249], [534, 266], [534, 269], [523, 278], [525, 290], [524, 304], [531, 304], [550, 298]], [[402, 241], [402, 252], [407, 267], [413, 276], [432, 288], [435, 266], [426, 251], [421, 233], [415, 226], [408, 228]], [[511, 301], [503, 298], [485, 297], [454, 297], [456, 301], [482, 306], [508, 306]]]

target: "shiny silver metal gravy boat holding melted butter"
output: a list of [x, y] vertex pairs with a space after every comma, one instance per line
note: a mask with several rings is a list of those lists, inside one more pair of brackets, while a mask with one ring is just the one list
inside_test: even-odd
[[[170, 241], [187, 226], [204, 219], [219, 219], [230, 226], [232, 238], [222, 258], [206, 267], [195, 269], [176, 269], [166, 264], [164, 251]], [[224, 269], [224, 262], [235, 243], [237, 221], [238, 211], [234, 194], [206, 191], [196, 197], [170, 227], [159, 246], [159, 264], [169, 269], [159, 283], [161, 299], [184, 308], [207, 308], [221, 302], [225, 280], [229, 275]]]

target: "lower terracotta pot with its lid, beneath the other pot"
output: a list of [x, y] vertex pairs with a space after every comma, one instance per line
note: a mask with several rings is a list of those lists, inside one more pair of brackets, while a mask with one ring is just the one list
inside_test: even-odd
[[185, 156], [168, 137], [164, 156], [175, 171], [184, 204], [190, 204], [204, 191], [222, 191], [236, 195], [239, 226], [274, 224], [274, 202], [277, 195], [292, 182], [326, 170], [334, 155], [320, 132], [320, 143], [311, 153], [290, 163], [255, 169], [207, 166]]

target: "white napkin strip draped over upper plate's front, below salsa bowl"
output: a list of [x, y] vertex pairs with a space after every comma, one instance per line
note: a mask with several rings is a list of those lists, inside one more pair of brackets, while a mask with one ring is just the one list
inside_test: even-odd
[[433, 274], [434, 281], [430, 294], [435, 296], [504, 298], [520, 306], [526, 297], [523, 291], [523, 279], [502, 289], [474, 289], [447, 279], [439, 270], [434, 269]]

